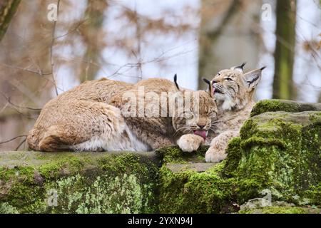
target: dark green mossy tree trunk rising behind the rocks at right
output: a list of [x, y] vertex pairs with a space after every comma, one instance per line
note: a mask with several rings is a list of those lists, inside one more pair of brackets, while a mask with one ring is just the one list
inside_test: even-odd
[[295, 58], [296, 0], [278, 0], [276, 7], [276, 46], [273, 98], [294, 99], [295, 86], [292, 81]]

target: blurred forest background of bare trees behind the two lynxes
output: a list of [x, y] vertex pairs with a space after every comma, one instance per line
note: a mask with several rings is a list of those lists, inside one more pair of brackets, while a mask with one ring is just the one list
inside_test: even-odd
[[48, 100], [102, 77], [198, 89], [246, 61], [267, 66], [257, 99], [321, 102], [320, 48], [320, 0], [0, 0], [0, 150], [26, 149]]

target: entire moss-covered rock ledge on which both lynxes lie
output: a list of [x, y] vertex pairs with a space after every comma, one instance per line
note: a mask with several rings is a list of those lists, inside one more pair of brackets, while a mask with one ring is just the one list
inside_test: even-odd
[[0, 213], [320, 213], [319, 108], [259, 102], [217, 164], [206, 146], [0, 152]]

